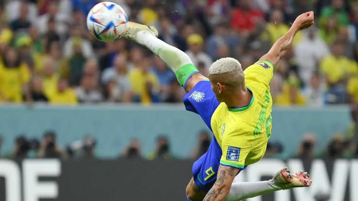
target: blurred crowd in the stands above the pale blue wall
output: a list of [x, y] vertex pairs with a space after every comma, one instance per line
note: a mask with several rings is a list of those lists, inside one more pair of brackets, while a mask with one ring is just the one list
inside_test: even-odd
[[[358, 2], [354, 0], [112, 0], [131, 21], [154, 25], [204, 75], [218, 58], [245, 69], [315, 11], [271, 83], [280, 106], [358, 103]], [[124, 39], [97, 41], [86, 15], [98, 0], [0, 1], [0, 103], [182, 101], [158, 57]], [[354, 108], [354, 107], [353, 107]]]

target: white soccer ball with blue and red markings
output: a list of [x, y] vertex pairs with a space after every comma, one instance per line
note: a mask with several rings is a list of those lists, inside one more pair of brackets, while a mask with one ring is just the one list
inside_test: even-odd
[[99, 3], [87, 15], [87, 29], [103, 42], [114, 41], [119, 38], [128, 22], [123, 8], [112, 2]]

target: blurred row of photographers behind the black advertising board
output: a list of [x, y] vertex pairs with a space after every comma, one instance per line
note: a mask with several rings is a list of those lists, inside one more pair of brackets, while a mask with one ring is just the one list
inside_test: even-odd
[[[293, 153], [285, 152], [283, 144], [278, 141], [269, 141], [265, 153], [266, 158], [299, 158], [303, 161], [311, 161], [315, 158], [334, 160], [336, 158], [358, 158], [358, 141], [350, 134], [353, 131], [348, 129], [346, 133], [336, 133], [324, 148], [318, 149], [318, 141], [315, 133], [305, 133], [301, 142], [293, 144], [297, 146], [297, 151]], [[347, 135], [348, 134], [348, 135]], [[187, 158], [197, 160], [207, 152], [212, 140], [212, 134], [206, 130], [197, 134], [197, 143]], [[59, 146], [57, 135], [54, 131], [46, 131], [42, 139], [28, 138], [25, 135], [16, 137], [13, 150], [1, 152], [3, 139], [0, 136], [0, 158], [12, 160], [23, 160], [24, 158], [59, 158], [61, 160], [77, 159], [96, 159], [102, 158], [96, 154], [97, 141], [91, 135], [86, 135], [83, 139], [71, 142], [64, 147]], [[171, 152], [171, 143], [165, 135], [159, 135], [155, 139], [153, 151], [144, 153], [139, 139], [133, 138], [122, 148], [118, 149], [118, 159], [146, 159], [171, 160], [178, 158]]]

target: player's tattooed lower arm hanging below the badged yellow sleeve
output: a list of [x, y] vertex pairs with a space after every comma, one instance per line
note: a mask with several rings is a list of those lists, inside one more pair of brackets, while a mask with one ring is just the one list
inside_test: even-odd
[[222, 201], [230, 191], [232, 182], [239, 169], [220, 165], [217, 173], [217, 179], [213, 187], [206, 194], [203, 201]]

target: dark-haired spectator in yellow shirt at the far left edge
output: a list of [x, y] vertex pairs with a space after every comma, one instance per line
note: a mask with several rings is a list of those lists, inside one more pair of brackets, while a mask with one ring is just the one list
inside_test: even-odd
[[31, 77], [30, 70], [19, 58], [19, 53], [9, 48], [0, 62], [0, 101], [22, 102], [23, 88]]

